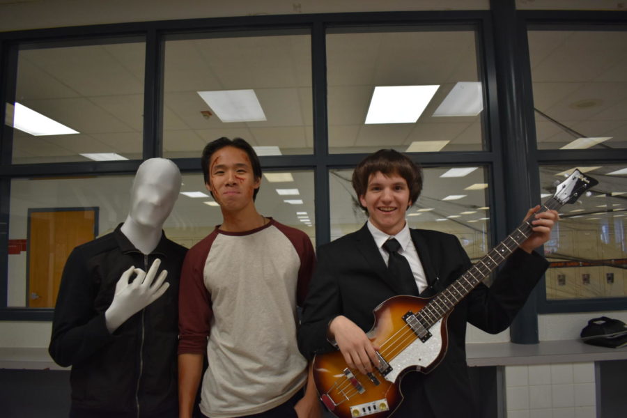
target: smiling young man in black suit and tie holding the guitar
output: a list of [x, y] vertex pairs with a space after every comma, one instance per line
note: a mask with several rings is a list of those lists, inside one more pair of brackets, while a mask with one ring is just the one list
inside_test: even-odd
[[[355, 169], [353, 187], [369, 220], [359, 231], [318, 249], [298, 341], [308, 358], [336, 345], [351, 369], [367, 373], [379, 364], [378, 347], [366, 336], [373, 327], [373, 309], [395, 295], [436, 295], [472, 264], [454, 235], [409, 229], [405, 212], [418, 199], [422, 173], [405, 155], [395, 150], [369, 155]], [[537, 210], [530, 209], [527, 216]], [[405, 399], [393, 417], [474, 416], [465, 362], [466, 323], [494, 334], [510, 325], [548, 267], [533, 249], [550, 238], [557, 219], [554, 210], [536, 213], [532, 235], [504, 263], [494, 284], [479, 284], [456, 304], [447, 321], [442, 362], [431, 373], [412, 371], [403, 377]], [[388, 247], [392, 238], [399, 249]], [[388, 270], [389, 260], [398, 255], [411, 270], [404, 281]]]

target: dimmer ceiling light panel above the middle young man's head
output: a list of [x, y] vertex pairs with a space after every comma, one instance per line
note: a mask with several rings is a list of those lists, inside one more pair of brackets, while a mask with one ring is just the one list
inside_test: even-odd
[[266, 120], [254, 90], [199, 91], [198, 94], [222, 122]]

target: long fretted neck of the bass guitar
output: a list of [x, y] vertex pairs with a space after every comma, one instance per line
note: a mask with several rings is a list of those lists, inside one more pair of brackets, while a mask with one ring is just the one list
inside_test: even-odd
[[[551, 198], [542, 206], [540, 212], [558, 210], [562, 206], [564, 205], [557, 199]], [[507, 257], [511, 256], [513, 251], [532, 234], [531, 222], [534, 219], [534, 215], [525, 219], [513, 233], [483, 256], [481, 260], [477, 261], [472, 268], [468, 269], [444, 291], [433, 297], [431, 302], [416, 315], [420, 322], [426, 328], [437, 323], [440, 318], [448, 314], [460, 300], [477, 287], [483, 279], [488, 277]]]

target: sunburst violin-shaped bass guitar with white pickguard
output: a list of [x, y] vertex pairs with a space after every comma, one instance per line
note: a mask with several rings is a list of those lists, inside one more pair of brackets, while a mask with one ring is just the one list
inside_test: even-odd
[[[575, 169], [557, 186], [543, 210], [558, 210], [574, 203], [598, 181]], [[532, 218], [483, 256], [444, 291], [430, 298], [394, 296], [373, 311], [375, 323], [369, 339], [379, 347], [380, 365], [363, 375], [350, 369], [339, 351], [316, 355], [314, 381], [322, 401], [338, 418], [386, 418], [403, 396], [398, 384], [404, 373], [432, 371], [447, 351], [447, 318], [481, 280], [495, 270], [532, 233]]]

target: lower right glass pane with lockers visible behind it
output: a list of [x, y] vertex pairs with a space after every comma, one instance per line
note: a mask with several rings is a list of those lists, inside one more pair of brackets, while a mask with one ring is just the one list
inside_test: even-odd
[[[556, 180], [575, 167], [540, 168], [542, 196], [555, 192]], [[546, 297], [594, 299], [627, 295], [627, 168], [577, 167], [598, 180], [577, 203], [562, 207], [557, 227], [545, 246], [551, 262], [546, 272]]]

